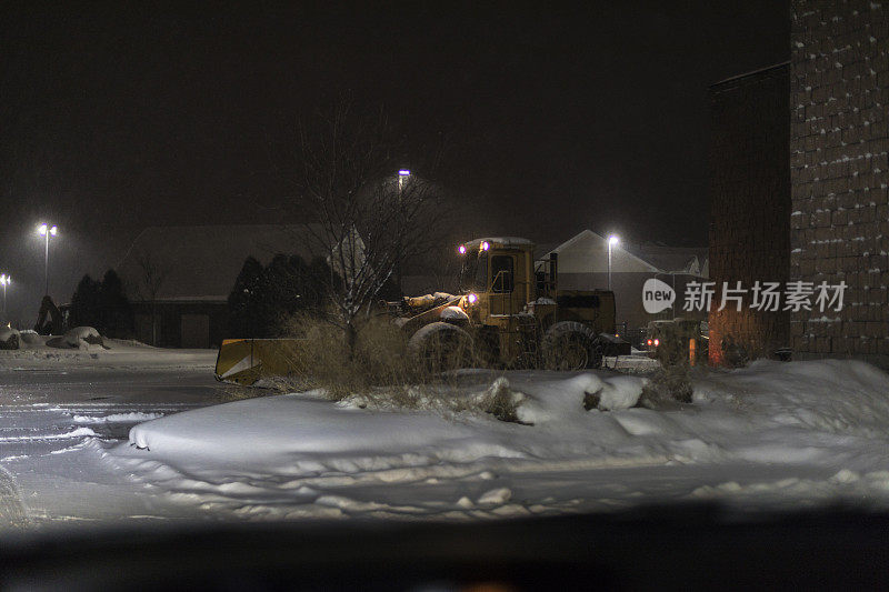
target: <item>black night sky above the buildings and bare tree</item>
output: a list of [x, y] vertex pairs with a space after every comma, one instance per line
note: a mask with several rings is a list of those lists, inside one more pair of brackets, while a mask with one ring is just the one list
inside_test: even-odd
[[773, 0], [36, 4], [0, 19], [0, 271], [27, 324], [39, 221], [67, 302], [146, 225], [292, 219], [279, 157], [343, 92], [447, 138], [470, 233], [706, 244], [708, 87], [789, 57]]

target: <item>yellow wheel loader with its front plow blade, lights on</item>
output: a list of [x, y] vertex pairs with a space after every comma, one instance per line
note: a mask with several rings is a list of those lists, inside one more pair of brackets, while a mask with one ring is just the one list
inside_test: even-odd
[[[615, 334], [615, 294], [562, 290], [558, 257], [535, 261], [535, 244], [487, 238], [458, 248], [459, 294], [436, 292], [381, 303], [407, 340], [408, 354], [432, 371], [475, 364], [581, 370], [599, 368]], [[226, 340], [218, 380], [252, 384], [263, 377], [311, 371], [298, 339]]]

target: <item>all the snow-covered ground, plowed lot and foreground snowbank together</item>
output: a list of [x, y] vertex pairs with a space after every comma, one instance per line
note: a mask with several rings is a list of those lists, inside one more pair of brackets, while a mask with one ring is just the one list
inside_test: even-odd
[[[889, 377], [859, 362], [700, 370], [695, 403], [669, 411], [623, 409], [638, 375], [466, 372], [455, 397], [499, 380], [522, 401], [523, 423], [505, 423], [318, 393], [204, 407], [220, 394], [210, 352], [181, 364], [157, 353], [167, 360], [44, 359], [39, 371], [10, 371], [19, 362], [0, 355], [18, 380], [0, 390], [0, 521], [473, 520], [698, 500], [889, 508]], [[613, 410], [585, 411], [588, 392]]]

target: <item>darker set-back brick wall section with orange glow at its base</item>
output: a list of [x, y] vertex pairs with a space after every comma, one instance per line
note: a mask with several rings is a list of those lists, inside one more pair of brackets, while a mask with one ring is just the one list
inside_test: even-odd
[[[715, 84], [710, 89], [710, 280], [750, 289], [788, 279], [790, 175], [788, 66]], [[721, 289], [717, 290], [719, 294]], [[681, 298], [681, 297], [680, 297]], [[749, 298], [710, 309], [710, 362], [721, 363], [723, 338], [752, 355], [789, 344], [789, 314], [753, 311]]]

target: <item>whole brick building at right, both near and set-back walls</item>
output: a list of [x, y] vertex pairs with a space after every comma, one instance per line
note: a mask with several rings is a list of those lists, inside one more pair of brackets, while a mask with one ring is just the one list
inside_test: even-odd
[[[769, 313], [713, 305], [710, 359], [725, 361], [731, 337], [755, 355], [788, 344], [795, 359], [889, 368], [889, 10], [792, 0], [790, 11], [789, 64], [711, 91], [710, 277], [787, 281], [811, 298]], [[822, 283], [845, 287], [841, 307], [818, 305]]]

